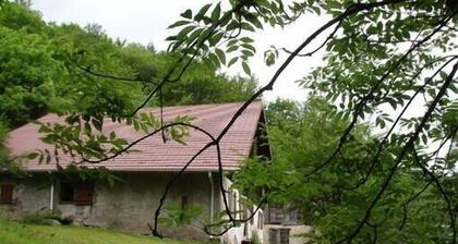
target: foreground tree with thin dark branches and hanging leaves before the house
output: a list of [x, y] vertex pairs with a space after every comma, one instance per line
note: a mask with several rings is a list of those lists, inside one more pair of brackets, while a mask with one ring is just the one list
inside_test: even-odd
[[[327, 157], [316, 158], [312, 169], [304, 172], [303, 176], [313, 179], [322, 171], [345, 167], [347, 161], [336, 159], [341, 154], [346, 156], [347, 145], [351, 145], [352, 138], [359, 135], [360, 122], [374, 118], [377, 130], [381, 130], [376, 139], [378, 143], [371, 144], [371, 154], [370, 157], [364, 157], [364, 163], [355, 160], [350, 164], [354, 167], [351, 168], [354, 175], [359, 175], [358, 187], [339, 188], [353, 199], [359, 197], [358, 193], [367, 193], [370, 197], [360, 203], [357, 209], [351, 209], [355, 216], [347, 219], [341, 229], [338, 229], [339, 225], [330, 225], [338, 229], [332, 231], [338, 235], [330, 235], [327, 241], [365, 243], [370, 235], [373, 242], [377, 242], [378, 231], [385, 228], [383, 219], [378, 218], [379, 210], [386, 208], [386, 211], [396, 212], [390, 202], [403, 206], [400, 198], [393, 197], [396, 195], [395, 190], [400, 188], [394, 185], [398, 185], [399, 181], [408, 181], [406, 184], [410, 184], [410, 180], [402, 179], [413, 179], [417, 184], [432, 182], [431, 185], [438, 194], [420, 191], [418, 194], [411, 193], [412, 197], [417, 202], [432, 196], [437, 204], [430, 205], [430, 209], [439, 212], [446, 209], [446, 217], [438, 217], [439, 228], [444, 227], [442, 230], [445, 231], [442, 237], [445, 236], [448, 243], [456, 243], [457, 203], [454, 196], [457, 194], [451, 184], [456, 179], [456, 157], [448, 152], [453, 150], [445, 150], [446, 145], [454, 144], [458, 127], [457, 118], [449, 115], [456, 114], [453, 100], [458, 93], [458, 57], [450, 54], [456, 50], [456, 1], [308, 0], [286, 4], [280, 0], [230, 0], [227, 7], [229, 9], [225, 8], [218, 2], [213, 5], [206, 4], [194, 13], [186, 10], [181, 14], [181, 19], [170, 26], [179, 29], [168, 38], [171, 41], [169, 51], [173, 52], [177, 59], [131, 114], [138, 112], [155, 96], [161, 106], [165, 87], [179, 83], [195, 60], [212, 62], [216, 69], [239, 64], [246, 74], [251, 74], [248, 62], [256, 51], [250, 37], [251, 33], [262, 29], [264, 25], [285, 27], [305, 14], [326, 14], [330, 20], [311, 33], [296, 49], [289, 51], [274, 48], [266, 52], [269, 65], [274, 64], [280, 54], [279, 50], [284, 50], [287, 58], [278, 65], [272, 80], [246, 99], [225, 130], [201, 151], [210, 146], [218, 146], [241, 112], [265, 90], [273, 88], [292, 60], [313, 56], [317, 50], [326, 48], [326, 64], [314, 69], [300, 84], [312, 94], [320, 93], [328, 101], [338, 105], [339, 109], [332, 113], [340, 118], [345, 126], [339, 131], [340, 136], [329, 142], [334, 149], [326, 155]], [[316, 44], [318, 37], [323, 37], [324, 41]], [[312, 45], [316, 46], [312, 48]], [[406, 111], [419, 102], [424, 106], [423, 114], [408, 115]], [[132, 120], [131, 117], [114, 115], [119, 120]], [[160, 123], [157, 130], [170, 129], [173, 125], [191, 126], [186, 123]], [[434, 142], [438, 146], [435, 146]], [[84, 147], [75, 149], [84, 152]], [[103, 161], [122, 154], [123, 149], [98, 152], [85, 156], [96, 156], [98, 161]], [[106, 154], [109, 156], [104, 157]], [[189, 163], [192, 163], [192, 160]], [[382, 170], [377, 170], [379, 168]], [[296, 186], [294, 182], [291, 184], [290, 187]], [[266, 200], [268, 199], [263, 198], [261, 203]], [[225, 204], [227, 206], [227, 199]], [[414, 205], [406, 205], [406, 208], [409, 209], [410, 206]], [[156, 211], [156, 220], [161, 207]], [[332, 210], [341, 212], [346, 208]], [[227, 228], [244, 221], [236, 219], [229, 210], [227, 215]], [[323, 221], [326, 221], [326, 218]], [[414, 222], [410, 218], [406, 221], [406, 224]], [[433, 225], [432, 222], [427, 224]], [[225, 233], [227, 228], [215, 234]], [[436, 227], [426, 231], [432, 233]], [[159, 234], [157, 221], [152, 232]], [[389, 239], [391, 235], [384, 233], [383, 236]], [[417, 237], [414, 242], [422, 241], [422, 235], [412, 237]]]

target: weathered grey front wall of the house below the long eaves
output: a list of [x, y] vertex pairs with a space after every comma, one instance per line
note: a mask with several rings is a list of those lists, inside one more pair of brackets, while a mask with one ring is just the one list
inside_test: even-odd
[[[114, 187], [103, 183], [95, 184], [94, 203], [91, 206], [59, 203], [59, 193], [55, 192], [55, 209], [62, 217], [71, 218], [75, 224], [97, 225], [120, 229], [130, 232], [148, 234], [148, 223], [154, 223], [154, 211], [162, 195], [167, 182], [172, 178], [170, 172], [131, 172], [120, 173], [123, 182]], [[219, 190], [214, 176], [215, 212], [219, 212]], [[50, 183], [45, 173], [31, 178], [13, 180], [0, 176], [0, 183], [15, 184], [12, 209], [21, 211], [38, 211], [50, 207]], [[210, 183], [207, 172], [188, 172], [174, 184], [166, 199], [167, 204], [181, 204], [182, 197], [188, 204], [200, 206], [204, 213], [195, 220], [202, 225], [209, 219]], [[165, 210], [162, 210], [164, 212]], [[174, 237], [208, 240], [198, 228], [161, 228], [166, 235]]]

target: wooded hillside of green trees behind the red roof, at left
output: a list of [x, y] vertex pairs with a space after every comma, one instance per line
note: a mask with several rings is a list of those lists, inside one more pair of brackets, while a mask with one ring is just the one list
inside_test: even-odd
[[[0, 33], [0, 112], [12, 127], [49, 111], [128, 113], [154, 86], [94, 74], [156, 82], [177, 59], [112, 40], [101, 26], [45, 23], [38, 12], [14, 2], [3, 3]], [[255, 88], [254, 78], [230, 77], [196, 61], [183, 82], [164, 88], [164, 105], [242, 101]]]

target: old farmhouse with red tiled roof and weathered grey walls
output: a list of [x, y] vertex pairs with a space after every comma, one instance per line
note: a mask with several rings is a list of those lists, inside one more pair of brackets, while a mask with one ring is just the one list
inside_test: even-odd
[[[242, 103], [178, 106], [164, 108], [165, 120], [177, 115], [194, 118], [192, 123], [213, 135], [218, 135]], [[150, 109], [158, 114], [157, 109]], [[41, 122], [62, 122], [57, 114], [47, 114]], [[260, 124], [264, 122], [262, 103], [253, 102], [241, 114], [221, 141], [224, 185], [230, 188], [230, 172], [239, 169], [244, 158], [254, 154], [269, 157], [269, 148]], [[104, 121], [104, 130], [116, 131], [119, 137], [132, 142], [142, 136], [129, 125]], [[10, 133], [8, 145], [13, 154], [23, 154], [35, 149], [49, 149], [38, 133], [38, 125], [26, 124]], [[51, 209], [61, 212], [62, 218], [75, 224], [108, 227], [137, 233], [149, 233], [148, 223], [154, 222], [154, 212], [159, 204], [166, 184], [180, 171], [209, 138], [198, 131], [191, 131], [184, 138], [186, 145], [177, 142], [164, 143], [159, 136], [148, 137], [135, 145], [130, 154], [91, 167], [105, 167], [122, 181], [114, 187], [94, 181], [69, 180], [62, 178], [59, 184], [51, 181], [58, 170], [57, 162], [39, 163], [38, 159], [23, 163], [29, 176], [17, 179], [7, 173], [0, 174], [0, 204], [16, 211], [39, 211]], [[60, 160], [60, 166], [68, 162]], [[167, 236], [195, 240], [220, 240], [221, 243], [239, 244], [250, 240], [253, 234], [263, 236], [264, 213], [260, 210], [253, 218], [240, 227], [233, 228], [222, 236], [208, 236], [201, 229], [202, 222], [217, 219], [224, 210], [222, 195], [219, 188], [219, 173], [216, 148], [213, 146], [198, 156], [185, 173], [171, 187], [167, 204], [176, 206], [198, 206], [203, 213], [185, 227], [166, 228], [160, 225]], [[231, 210], [239, 217], [246, 216], [254, 206], [243, 206], [237, 190], [227, 193]], [[167, 210], [162, 209], [162, 212]]]

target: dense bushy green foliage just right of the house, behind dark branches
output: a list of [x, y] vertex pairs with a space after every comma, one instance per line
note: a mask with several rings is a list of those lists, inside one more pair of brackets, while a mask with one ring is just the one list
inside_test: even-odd
[[[299, 105], [285, 110], [285, 103], [288, 102], [277, 100], [266, 110], [266, 114], [275, 114], [274, 118], [285, 118], [267, 127], [273, 161], [248, 161], [236, 174], [236, 187], [252, 199], [258, 198], [260, 187], [264, 188], [268, 203], [288, 204], [302, 212], [302, 221], [314, 227], [308, 234], [312, 243], [333, 243], [341, 239], [342, 231], [351, 231], [353, 222], [365, 213], [367, 200], [378, 190], [399, 148], [382, 154], [365, 187], [358, 187], [362, 184], [362, 173], [369, 169], [366, 158], [373, 157], [376, 151], [372, 148], [379, 145], [366, 125], [358, 125], [329, 167], [310, 174], [317, 161], [325, 161], [334, 152], [341, 130], [349, 121], [341, 121], [334, 112], [336, 108], [323, 99], [310, 99], [303, 110]], [[287, 115], [296, 111], [301, 111], [298, 119], [289, 120]], [[386, 197], [371, 216], [370, 222], [376, 223], [378, 240], [384, 243], [447, 242], [450, 229], [446, 224], [447, 210], [441, 193], [432, 187], [432, 182], [419, 184], [421, 178], [420, 172], [403, 168], [394, 179]], [[455, 178], [449, 180], [455, 181]], [[418, 198], [415, 194], [421, 191], [424, 191], [422, 197]], [[361, 232], [361, 243], [373, 241], [373, 233], [371, 227]]]

